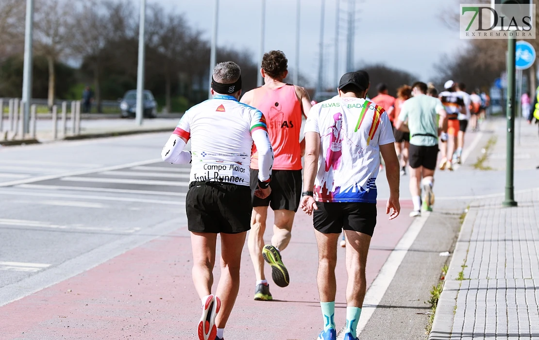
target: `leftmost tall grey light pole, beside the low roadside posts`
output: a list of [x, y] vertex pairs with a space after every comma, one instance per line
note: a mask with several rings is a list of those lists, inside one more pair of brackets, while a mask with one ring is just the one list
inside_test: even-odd
[[26, 27], [24, 31], [24, 71], [23, 102], [24, 121], [23, 135], [30, 129], [30, 101], [32, 100], [32, 37], [33, 37], [33, 0], [26, 0]]

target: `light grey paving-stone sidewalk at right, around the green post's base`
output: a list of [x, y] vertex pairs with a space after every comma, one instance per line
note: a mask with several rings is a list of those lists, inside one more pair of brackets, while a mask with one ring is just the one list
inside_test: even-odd
[[429, 339], [539, 340], [539, 189], [474, 202]]

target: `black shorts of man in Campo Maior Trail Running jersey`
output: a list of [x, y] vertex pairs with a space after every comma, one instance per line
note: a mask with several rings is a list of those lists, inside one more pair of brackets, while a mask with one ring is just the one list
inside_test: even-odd
[[185, 210], [191, 232], [243, 233], [251, 229], [251, 190], [246, 185], [191, 182]]

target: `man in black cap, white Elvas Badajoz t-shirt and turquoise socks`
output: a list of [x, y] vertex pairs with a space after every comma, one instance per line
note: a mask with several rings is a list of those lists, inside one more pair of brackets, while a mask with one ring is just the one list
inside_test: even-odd
[[305, 126], [305, 180], [301, 209], [314, 210], [319, 252], [317, 274], [324, 329], [319, 340], [335, 340], [335, 266], [337, 241], [346, 235], [347, 329], [345, 340], [357, 340], [367, 282], [367, 252], [376, 225], [376, 177], [380, 152], [385, 159], [390, 198], [386, 212], [394, 219], [400, 212], [399, 161], [388, 115], [365, 100], [369, 80], [350, 72], [341, 78], [340, 98], [315, 105]]

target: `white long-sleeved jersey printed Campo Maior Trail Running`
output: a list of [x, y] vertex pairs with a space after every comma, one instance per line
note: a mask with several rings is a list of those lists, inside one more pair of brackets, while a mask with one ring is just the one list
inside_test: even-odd
[[[191, 140], [191, 152], [184, 151]], [[191, 182], [250, 185], [251, 149], [258, 150], [258, 178], [268, 182], [273, 166], [266, 119], [229, 95], [216, 95], [183, 115], [161, 156], [173, 164], [192, 162]]]

